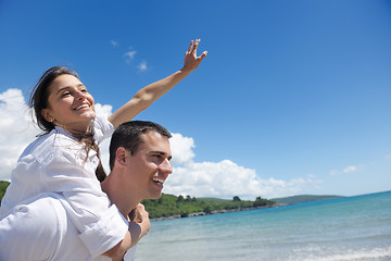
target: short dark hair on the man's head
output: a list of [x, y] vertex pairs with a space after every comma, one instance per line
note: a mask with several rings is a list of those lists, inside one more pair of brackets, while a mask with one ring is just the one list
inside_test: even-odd
[[121, 124], [115, 129], [110, 142], [110, 169], [114, 167], [115, 153], [119, 147], [127, 149], [134, 156], [142, 142], [140, 135], [148, 132], [156, 132], [166, 138], [172, 137], [172, 134], [157, 123], [131, 121]]

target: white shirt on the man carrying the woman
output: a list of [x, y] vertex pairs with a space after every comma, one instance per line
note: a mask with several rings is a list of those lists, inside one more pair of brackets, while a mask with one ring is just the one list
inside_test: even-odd
[[[67, 215], [72, 209], [58, 194], [41, 194], [14, 207], [0, 221], [0, 260], [109, 261], [93, 257]], [[136, 247], [125, 260], [134, 260]]]

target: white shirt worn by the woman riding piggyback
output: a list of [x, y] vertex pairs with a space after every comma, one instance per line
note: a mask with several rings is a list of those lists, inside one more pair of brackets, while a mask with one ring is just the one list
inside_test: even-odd
[[[101, 142], [114, 132], [105, 119], [94, 120], [94, 138]], [[0, 220], [12, 208], [42, 192], [61, 195], [68, 203], [66, 213], [92, 256], [117, 245], [128, 229], [127, 220], [111, 204], [96, 177], [99, 159], [62, 127], [38, 137], [22, 153], [2, 199]]]

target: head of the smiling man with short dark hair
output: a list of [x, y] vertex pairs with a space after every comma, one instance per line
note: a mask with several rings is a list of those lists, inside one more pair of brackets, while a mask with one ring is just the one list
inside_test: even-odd
[[110, 167], [121, 179], [124, 194], [139, 199], [160, 197], [164, 181], [173, 172], [171, 137], [166, 128], [152, 122], [133, 121], [118, 126], [110, 145]]

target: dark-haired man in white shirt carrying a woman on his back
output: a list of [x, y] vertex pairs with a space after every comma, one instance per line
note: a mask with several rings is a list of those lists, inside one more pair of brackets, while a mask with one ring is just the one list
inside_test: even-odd
[[[124, 216], [138, 208], [141, 221], [129, 222], [135, 245], [148, 233], [148, 213], [139, 204], [142, 199], [156, 199], [173, 172], [167, 129], [151, 122], [122, 124], [110, 145], [111, 173], [102, 182], [102, 190]], [[66, 214], [70, 208], [61, 195], [47, 194], [17, 206], [0, 221], [0, 260], [122, 260], [122, 241], [100, 257], [84, 246], [79, 233]], [[133, 228], [133, 229], [130, 229]], [[133, 259], [133, 252], [126, 260]], [[108, 258], [110, 257], [110, 258]]]

